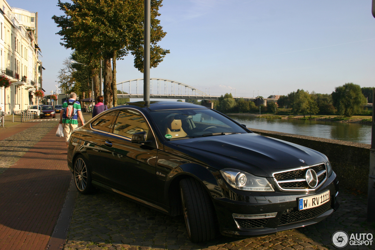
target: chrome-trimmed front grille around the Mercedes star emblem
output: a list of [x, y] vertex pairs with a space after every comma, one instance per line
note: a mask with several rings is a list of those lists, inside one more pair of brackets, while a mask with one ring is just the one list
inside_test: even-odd
[[[306, 171], [312, 169], [317, 173], [318, 184], [315, 188], [309, 187], [306, 181]], [[327, 167], [325, 163], [312, 166], [299, 167], [272, 173], [278, 187], [283, 191], [315, 191], [327, 179]]]

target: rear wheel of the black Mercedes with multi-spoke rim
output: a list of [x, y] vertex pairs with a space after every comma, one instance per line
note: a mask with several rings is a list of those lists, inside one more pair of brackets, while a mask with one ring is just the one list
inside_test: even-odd
[[78, 156], [74, 161], [73, 175], [78, 192], [90, 194], [95, 191], [95, 187], [91, 183], [90, 170], [82, 156]]

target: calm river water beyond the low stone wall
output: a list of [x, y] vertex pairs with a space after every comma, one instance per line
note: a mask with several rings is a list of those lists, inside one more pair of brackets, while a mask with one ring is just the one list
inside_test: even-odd
[[371, 144], [371, 125], [368, 124], [297, 119], [257, 119], [252, 116], [235, 114], [228, 116], [245, 124], [248, 128]]

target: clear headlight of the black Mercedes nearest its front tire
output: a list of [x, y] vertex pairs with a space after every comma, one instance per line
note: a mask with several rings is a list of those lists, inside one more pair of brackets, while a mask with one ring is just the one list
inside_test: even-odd
[[264, 177], [238, 169], [222, 169], [220, 172], [225, 181], [233, 188], [246, 191], [275, 191]]

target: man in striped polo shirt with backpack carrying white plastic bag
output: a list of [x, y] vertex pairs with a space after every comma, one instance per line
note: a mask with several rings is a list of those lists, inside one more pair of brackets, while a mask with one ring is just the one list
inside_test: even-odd
[[66, 146], [69, 145], [69, 138], [72, 133], [72, 131], [78, 127], [78, 117], [80, 117], [82, 126], [85, 125], [82, 117], [82, 112], [81, 112], [81, 104], [80, 102], [75, 101], [77, 98], [77, 94], [72, 92], [70, 94], [69, 102], [73, 104], [73, 110], [72, 110], [72, 117], [68, 118], [66, 116], [67, 110], [68, 110], [68, 102], [65, 101], [62, 106], [62, 110], [60, 112], [60, 124], [63, 125], [63, 130], [64, 130], [64, 137], [65, 137], [65, 142]]

